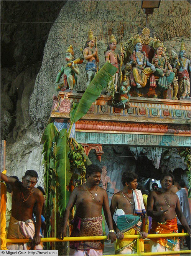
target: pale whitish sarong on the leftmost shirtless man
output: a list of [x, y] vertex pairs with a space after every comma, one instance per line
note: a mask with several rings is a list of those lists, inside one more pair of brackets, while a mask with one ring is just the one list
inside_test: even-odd
[[[28, 219], [27, 221], [18, 221], [13, 216], [10, 218], [8, 226], [7, 238], [16, 238], [16, 239], [33, 239], [35, 234], [35, 222], [33, 219]], [[20, 243], [12, 244], [7, 243], [8, 250], [30, 250], [31, 243]], [[42, 242], [39, 245], [35, 246], [35, 250], [42, 250]]]

